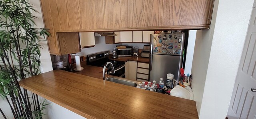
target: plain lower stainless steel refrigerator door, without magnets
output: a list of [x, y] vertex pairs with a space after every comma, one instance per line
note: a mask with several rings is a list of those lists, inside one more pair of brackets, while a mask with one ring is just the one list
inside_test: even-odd
[[158, 83], [160, 78], [163, 78], [164, 84], [166, 84], [168, 73], [173, 74], [174, 79], [177, 80], [180, 75], [181, 66], [181, 56], [150, 54], [150, 81], [156, 80], [156, 83]]

